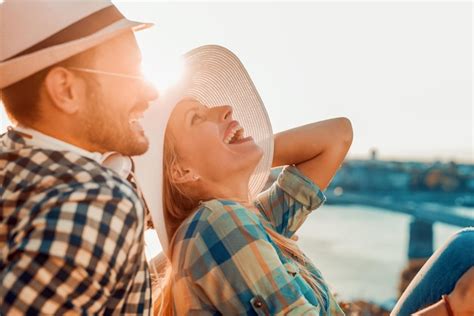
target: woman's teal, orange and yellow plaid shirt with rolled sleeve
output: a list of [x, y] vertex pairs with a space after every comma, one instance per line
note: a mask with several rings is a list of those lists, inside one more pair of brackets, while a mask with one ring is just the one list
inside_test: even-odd
[[[178, 228], [173, 243], [177, 315], [343, 315], [323, 281], [323, 302], [264, 226], [291, 237], [325, 201], [294, 166], [261, 193], [255, 210], [227, 200], [205, 202]], [[309, 261], [306, 267], [322, 279]]]

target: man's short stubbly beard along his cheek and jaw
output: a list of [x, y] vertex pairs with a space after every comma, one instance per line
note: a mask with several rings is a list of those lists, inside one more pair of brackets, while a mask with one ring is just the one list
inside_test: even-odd
[[[118, 152], [126, 156], [142, 155], [148, 150], [148, 142], [140, 141], [131, 130], [130, 112], [108, 107], [100, 87], [88, 87], [90, 96], [85, 115], [83, 131], [94, 148], [104, 152]], [[130, 109], [133, 111], [135, 108]]]

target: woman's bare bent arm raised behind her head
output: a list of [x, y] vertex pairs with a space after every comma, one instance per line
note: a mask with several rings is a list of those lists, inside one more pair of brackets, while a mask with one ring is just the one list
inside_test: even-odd
[[321, 190], [331, 182], [352, 144], [344, 117], [316, 122], [275, 135], [273, 166], [295, 164]]

